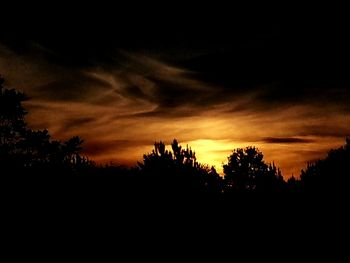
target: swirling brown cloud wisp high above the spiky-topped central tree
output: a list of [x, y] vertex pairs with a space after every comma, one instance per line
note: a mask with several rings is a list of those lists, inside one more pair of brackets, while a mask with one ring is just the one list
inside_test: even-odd
[[115, 76], [121, 83], [116, 89], [121, 95], [148, 100], [159, 108], [215, 104], [220, 88], [197, 79], [190, 71], [143, 55], [126, 56], [127, 71], [122, 68]]

